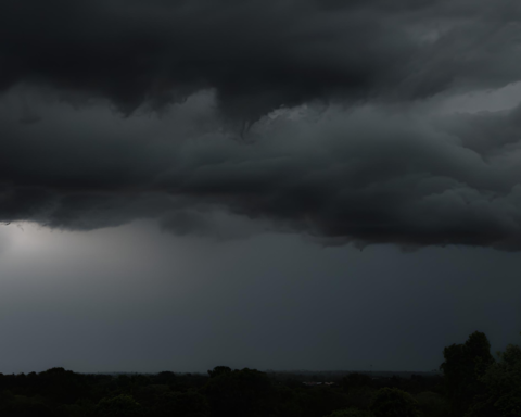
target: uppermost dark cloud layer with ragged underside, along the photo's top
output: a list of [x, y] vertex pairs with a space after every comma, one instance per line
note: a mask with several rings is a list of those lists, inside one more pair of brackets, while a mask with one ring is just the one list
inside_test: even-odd
[[127, 114], [215, 88], [246, 119], [314, 99], [421, 99], [518, 80], [519, 17], [508, 0], [3, 0], [0, 88], [49, 85]]

